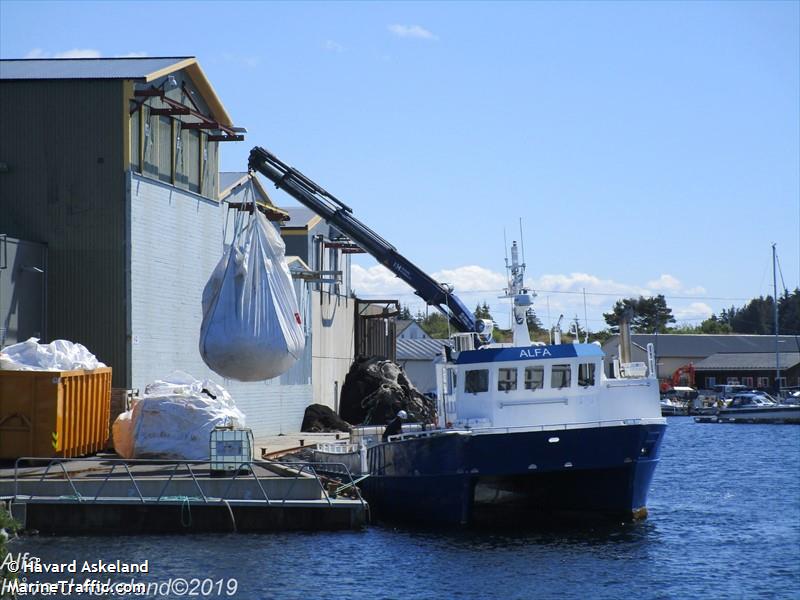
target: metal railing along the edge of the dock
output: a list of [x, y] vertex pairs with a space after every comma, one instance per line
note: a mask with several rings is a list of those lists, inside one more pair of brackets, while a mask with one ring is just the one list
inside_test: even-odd
[[[25, 468], [22, 465], [36, 465], [37, 463], [45, 466], [44, 470], [39, 473], [41, 467]], [[231, 471], [231, 474], [225, 474], [219, 477], [208, 477], [210, 473], [201, 473], [201, 471], [208, 471], [208, 460], [160, 460], [160, 459], [122, 459], [122, 458], [105, 458], [105, 457], [90, 457], [90, 458], [42, 458], [42, 457], [20, 457], [14, 463], [14, 502], [78, 502], [95, 504], [98, 502], [136, 502], [139, 504], [160, 504], [160, 503], [201, 503], [201, 504], [233, 504], [233, 503], [264, 503], [266, 505], [286, 505], [287, 502], [292, 503], [299, 499], [293, 498], [293, 492], [297, 487], [299, 481], [316, 481], [321, 492], [321, 498], [330, 506], [331, 496], [325, 488], [323, 476], [317, 473], [318, 468], [329, 467], [335, 465], [340, 470], [340, 476], [343, 477], [342, 483], [347, 487], [355, 489], [356, 499], [365, 504], [361, 497], [360, 490], [356, 487], [356, 480], [344, 463], [330, 463], [330, 462], [310, 462], [310, 461], [272, 461], [272, 460], [249, 460], [237, 463], [237, 469]], [[70, 473], [67, 468], [72, 465], [80, 465], [81, 470], [74, 469]], [[138, 471], [136, 467], [160, 467], [163, 474], [155, 474], [152, 469], [147, 471]], [[269, 472], [268, 475], [259, 476], [257, 469], [263, 469]], [[286, 473], [292, 474], [287, 476]], [[90, 477], [86, 477], [86, 473], [91, 473]], [[113, 478], [114, 474], [117, 478]], [[280, 475], [276, 475], [280, 473]], [[168, 476], [165, 478], [164, 476]], [[130, 482], [130, 487], [127, 489], [127, 495], [111, 495], [103, 496], [102, 492], [107, 488], [110, 481], [123, 480]], [[289, 479], [291, 482], [288, 486], [280, 486], [282, 488], [276, 495], [274, 486], [266, 485], [267, 483], [276, 480]], [[52, 483], [56, 481], [65, 481], [71, 494], [55, 494], [47, 493], [44, 489], [45, 482]], [[163, 480], [163, 483], [162, 483]], [[195, 494], [189, 496], [185, 489], [187, 481], [191, 481], [190, 488]], [[220, 485], [215, 485], [212, 490], [209, 486], [210, 482], [225, 482], [227, 485], [224, 489], [220, 490]], [[233, 487], [236, 481], [253, 481], [255, 488], [259, 493], [258, 497], [237, 497], [232, 494]], [[143, 483], [148, 482], [152, 484], [161, 484], [157, 494], [145, 494], [142, 492]], [[34, 486], [29, 486], [33, 483]], [[78, 487], [85, 487], [91, 484], [98, 484], [96, 489], [92, 490], [93, 493], [81, 494]], [[35, 489], [36, 485], [40, 485], [42, 489]], [[28, 494], [21, 493], [21, 485], [31, 487]], [[179, 486], [181, 488], [179, 489]], [[204, 489], [205, 486], [205, 489]], [[267, 492], [270, 487], [273, 491], [272, 494]], [[150, 486], [153, 489], [153, 486]], [[33, 493], [33, 492], [41, 493]], [[239, 490], [241, 493], [241, 490]], [[301, 500], [302, 501], [302, 500]]]

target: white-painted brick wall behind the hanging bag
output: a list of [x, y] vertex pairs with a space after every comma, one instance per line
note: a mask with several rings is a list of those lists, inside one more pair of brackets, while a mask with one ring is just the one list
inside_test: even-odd
[[130, 183], [133, 387], [181, 369], [225, 386], [256, 436], [299, 431], [313, 394], [310, 337], [299, 364], [266, 382], [224, 380], [200, 358], [201, 297], [222, 256], [225, 209], [137, 175]]

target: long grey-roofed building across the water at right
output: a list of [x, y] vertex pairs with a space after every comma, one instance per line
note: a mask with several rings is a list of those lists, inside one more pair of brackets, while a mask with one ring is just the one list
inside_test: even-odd
[[[775, 336], [773, 335], [631, 335], [631, 360], [647, 362], [647, 344], [653, 344], [658, 378], [669, 379], [691, 363], [695, 385], [711, 388], [718, 384], [742, 384], [775, 389]], [[793, 335], [778, 336], [781, 387], [800, 385], [800, 346]], [[619, 357], [619, 336], [603, 344], [607, 375]]]

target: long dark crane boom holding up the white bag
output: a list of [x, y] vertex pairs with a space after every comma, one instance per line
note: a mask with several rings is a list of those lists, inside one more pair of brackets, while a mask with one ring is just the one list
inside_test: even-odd
[[435, 281], [389, 242], [356, 219], [352, 209], [333, 194], [261, 147], [257, 146], [250, 151], [249, 166], [272, 181], [276, 188], [284, 190], [349, 236], [379, 263], [410, 285], [420, 298], [440, 310], [455, 329], [463, 333], [475, 331], [475, 316], [450, 288]]

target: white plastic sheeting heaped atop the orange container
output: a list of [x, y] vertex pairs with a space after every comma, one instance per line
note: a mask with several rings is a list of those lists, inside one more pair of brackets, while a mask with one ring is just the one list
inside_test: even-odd
[[28, 338], [0, 351], [0, 369], [7, 371], [92, 371], [105, 366], [86, 346], [69, 340], [40, 344], [39, 338]]

